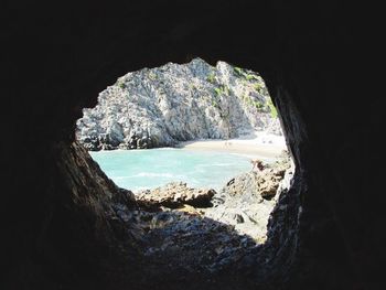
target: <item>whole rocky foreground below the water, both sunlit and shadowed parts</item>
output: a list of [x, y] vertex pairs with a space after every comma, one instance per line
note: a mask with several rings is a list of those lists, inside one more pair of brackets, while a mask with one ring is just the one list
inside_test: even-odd
[[[136, 273], [140, 278], [137, 283], [146, 289], [153, 286], [150, 281], [161, 281], [164, 276], [179, 279], [195, 272], [215, 273], [240, 261], [245, 253], [255, 251], [266, 241], [268, 217], [278, 196], [289, 190], [293, 168], [288, 170], [288, 161], [259, 173], [245, 173], [224, 186], [221, 194], [170, 183], [137, 193], [136, 210], [116, 205], [120, 218], [141, 233], [137, 244], [144, 267]], [[282, 180], [285, 171], [287, 178]], [[272, 178], [276, 195], [267, 201], [258, 181]], [[211, 201], [214, 207], [208, 207]]]

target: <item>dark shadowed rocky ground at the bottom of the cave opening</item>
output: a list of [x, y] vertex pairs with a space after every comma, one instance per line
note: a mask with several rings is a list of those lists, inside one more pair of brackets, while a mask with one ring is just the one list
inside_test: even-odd
[[192, 206], [140, 211], [136, 215], [146, 233], [144, 245], [149, 245], [143, 254], [149, 275], [159, 275], [157, 261], [168, 261], [179, 270], [218, 269], [256, 246], [250, 237], [235, 233], [233, 226], [206, 218]]

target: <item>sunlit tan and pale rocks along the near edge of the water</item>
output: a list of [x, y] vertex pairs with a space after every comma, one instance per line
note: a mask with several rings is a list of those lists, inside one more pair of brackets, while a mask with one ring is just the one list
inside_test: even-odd
[[[162, 216], [173, 215], [170, 221], [163, 219], [176, 224], [180, 217], [195, 221], [199, 215], [224, 224], [225, 228], [230, 226], [239, 235], [247, 235], [255, 244], [261, 244], [267, 238], [268, 217], [279, 194], [288, 191], [293, 170], [293, 164], [290, 165], [290, 159], [286, 155], [266, 165], [262, 171], [250, 171], [232, 179], [218, 193], [207, 189], [190, 189], [183, 182], [140, 191], [135, 194], [137, 204], [142, 208], [139, 221], [150, 214], [146, 213], [148, 211], [156, 212], [151, 214], [151, 219], [157, 219], [157, 212], [161, 212]], [[180, 212], [186, 212], [191, 217], [174, 215]], [[146, 221], [149, 218], [144, 217]], [[175, 227], [181, 225], [174, 225], [173, 228]], [[200, 225], [202, 227], [205, 226]], [[202, 243], [206, 243], [205, 238]]]

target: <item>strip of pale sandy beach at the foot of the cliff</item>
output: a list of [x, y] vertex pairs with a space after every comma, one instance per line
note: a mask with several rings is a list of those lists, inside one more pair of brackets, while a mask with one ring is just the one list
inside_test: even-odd
[[266, 135], [264, 132], [255, 132], [254, 135], [229, 140], [208, 139], [186, 141], [179, 143], [176, 147], [187, 150], [229, 152], [261, 159], [278, 158], [282, 153], [282, 150], [287, 149], [283, 137]]

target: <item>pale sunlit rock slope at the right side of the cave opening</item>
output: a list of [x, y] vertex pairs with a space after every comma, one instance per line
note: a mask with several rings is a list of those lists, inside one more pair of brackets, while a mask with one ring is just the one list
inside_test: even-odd
[[[292, 172], [290, 159], [270, 165], [261, 171], [250, 171], [232, 179], [213, 197], [214, 207], [205, 210], [205, 216], [233, 225], [261, 244], [266, 240], [268, 217], [277, 202], [278, 192], [288, 186], [286, 172]], [[285, 182], [285, 185], [281, 183]]]

